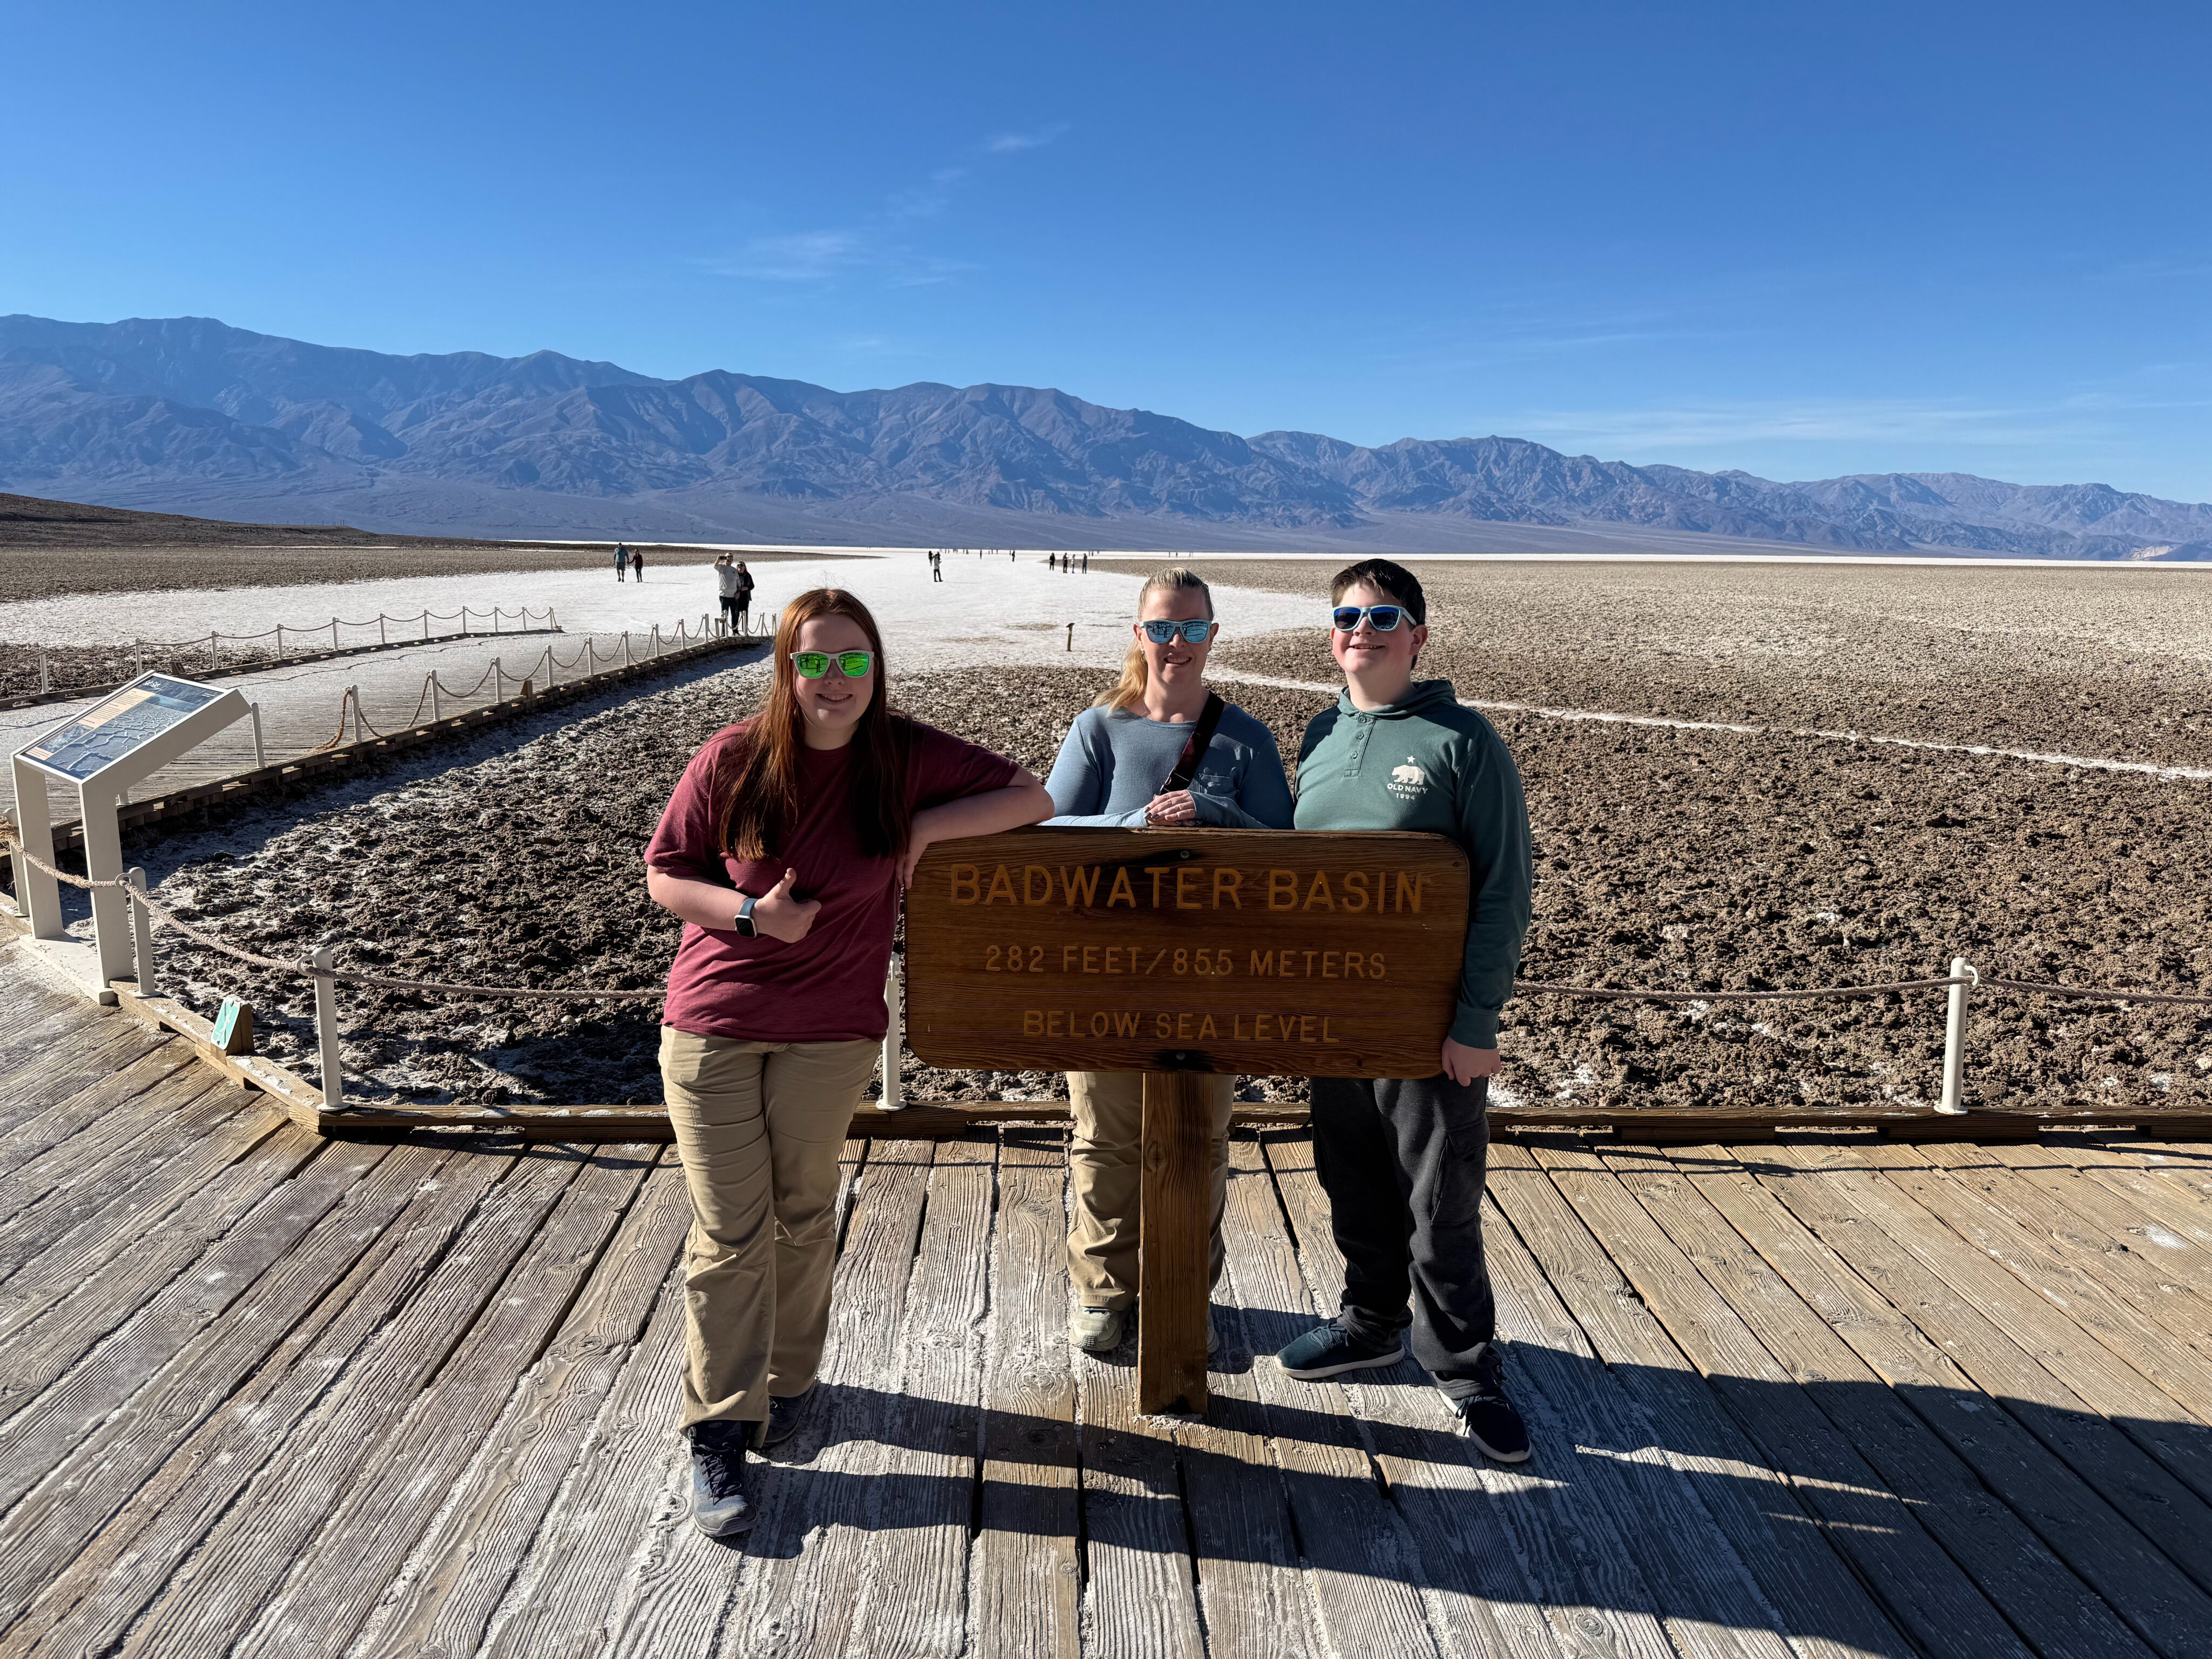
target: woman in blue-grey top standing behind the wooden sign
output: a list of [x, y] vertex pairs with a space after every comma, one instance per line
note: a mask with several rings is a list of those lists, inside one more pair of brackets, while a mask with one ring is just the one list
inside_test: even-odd
[[[1159, 571], [1137, 595], [1121, 681], [1068, 726], [1053, 761], [1053, 825], [1228, 825], [1287, 830], [1290, 785], [1274, 734], [1206, 686], [1219, 624], [1194, 571]], [[1221, 1279], [1221, 1203], [1230, 1170], [1234, 1077], [1206, 1073], [1212, 1139], [1212, 1283]], [[1121, 1340], [1137, 1301], [1137, 1210], [1144, 1188], [1144, 1073], [1071, 1071], [1068, 1338], [1102, 1352]], [[1206, 1318], [1214, 1347], [1214, 1321]]]

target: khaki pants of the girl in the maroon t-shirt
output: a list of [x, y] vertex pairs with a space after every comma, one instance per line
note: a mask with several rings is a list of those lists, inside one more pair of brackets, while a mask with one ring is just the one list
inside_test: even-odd
[[684, 1425], [761, 1422], [805, 1394], [830, 1334], [838, 1148], [874, 1042], [741, 1042], [661, 1026], [684, 1155]]

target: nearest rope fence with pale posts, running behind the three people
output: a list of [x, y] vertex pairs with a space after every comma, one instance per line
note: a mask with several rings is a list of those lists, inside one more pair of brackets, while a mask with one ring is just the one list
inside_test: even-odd
[[[661, 989], [542, 989], [524, 984], [451, 984], [445, 980], [407, 980], [387, 973], [354, 973], [341, 971], [334, 962], [332, 947], [321, 947], [312, 953], [285, 960], [276, 956], [263, 956], [259, 951], [248, 951], [212, 933], [201, 931], [192, 922], [186, 922], [168, 905], [159, 902], [146, 891], [146, 872], [133, 869], [115, 880], [93, 880], [88, 876], [71, 876], [64, 869], [55, 869], [42, 858], [29, 854], [20, 843], [9, 845], [20, 863], [53, 876], [60, 883], [80, 889], [113, 887], [122, 889], [133, 905], [133, 938], [137, 942], [137, 973], [139, 993], [153, 995], [153, 922], [161, 920], [175, 927], [195, 945], [201, 945], [217, 956], [226, 956], [243, 967], [261, 969], [265, 973], [281, 973], [294, 980], [312, 980], [316, 998], [316, 1044], [323, 1055], [323, 1097], [330, 1106], [343, 1106], [343, 1075], [338, 1068], [338, 1031], [336, 1031], [336, 987], [358, 984], [374, 991], [405, 991], [414, 995], [442, 995], [442, 998], [493, 998], [493, 1000], [518, 1000], [518, 1002], [657, 1002]], [[2112, 989], [2095, 984], [2057, 984], [2048, 980], [2004, 980], [1982, 975], [1964, 958], [1953, 958], [1951, 973], [1947, 978], [1924, 978], [1924, 980], [1882, 980], [1878, 984], [1818, 984], [1801, 989], [1778, 989], [1778, 991], [1659, 991], [1646, 987], [1606, 987], [1606, 984], [1557, 984], [1551, 980], [1515, 980], [1515, 995], [1564, 995], [1564, 998], [1586, 998], [1606, 1002], [1812, 1002], [1812, 1000], [1849, 1000], [1849, 998], [1874, 998], [1893, 995], [1905, 991], [1947, 991], [1947, 1020], [1944, 1020], [1944, 1066], [1942, 1066], [1942, 1102], [1936, 1106], [1938, 1115], [1958, 1117], [1966, 1108], [1960, 1102], [1964, 1086], [1964, 1044], [1966, 1044], [1966, 993], [1980, 991], [2006, 991], [2013, 995], [2039, 995], [2039, 998], [2062, 998], [2077, 1002], [2117, 1002], [2128, 1004], [2157, 1004], [2157, 1006], [2188, 1006], [2188, 1009], [2212, 1009], [2212, 995], [2185, 993], [2185, 991], [2143, 991], [2143, 989]], [[891, 960], [889, 978], [885, 980], [885, 1002], [891, 1011], [889, 1031], [883, 1040], [883, 1097], [885, 1110], [898, 1106], [898, 1044], [900, 1044], [900, 987], [898, 987], [898, 960]]]

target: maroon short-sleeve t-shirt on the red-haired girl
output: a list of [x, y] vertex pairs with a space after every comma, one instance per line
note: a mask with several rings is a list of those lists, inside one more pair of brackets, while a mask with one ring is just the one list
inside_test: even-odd
[[[880, 1040], [898, 860], [860, 854], [852, 825], [852, 748], [799, 750], [799, 823], [785, 832], [779, 856], [723, 858], [714, 807], [750, 730], [752, 721], [714, 732], [684, 768], [661, 827], [646, 843], [646, 863], [688, 880], [730, 883], [737, 887], [732, 918], [739, 894], [765, 896], [785, 869], [796, 869], [796, 891], [823, 907], [796, 945], [684, 922], [661, 1024], [752, 1042]], [[1006, 757], [920, 721], [909, 721], [909, 730], [907, 805], [914, 812], [1013, 783], [1018, 768]]]

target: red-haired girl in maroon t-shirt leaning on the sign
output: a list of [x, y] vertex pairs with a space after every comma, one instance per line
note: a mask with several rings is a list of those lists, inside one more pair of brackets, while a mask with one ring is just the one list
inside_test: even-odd
[[814, 1398], [838, 1148], [887, 1026], [898, 894], [933, 841], [1051, 810], [1013, 761], [894, 714], [876, 619], [814, 588], [783, 611], [765, 706], [692, 757], [646, 843], [646, 891], [684, 918], [661, 1086], [692, 1206], [684, 1427], [703, 1533], [752, 1526], [748, 1453]]

